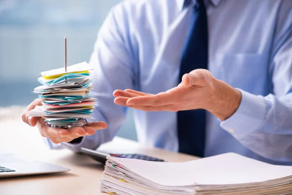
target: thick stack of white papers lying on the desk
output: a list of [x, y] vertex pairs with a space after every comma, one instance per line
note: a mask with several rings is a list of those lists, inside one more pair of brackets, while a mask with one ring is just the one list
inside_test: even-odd
[[292, 167], [226, 153], [187, 162], [107, 157], [100, 191], [114, 195], [291, 195]]

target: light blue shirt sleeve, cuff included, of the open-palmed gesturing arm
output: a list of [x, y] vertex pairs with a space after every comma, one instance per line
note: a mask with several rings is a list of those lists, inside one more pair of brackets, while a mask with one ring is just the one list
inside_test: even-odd
[[238, 89], [237, 111], [220, 126], [241, 144], [268, 159], [292, 162], [292, 3], [278, 13], [270, 71], [273, 94], [256, 96]]

